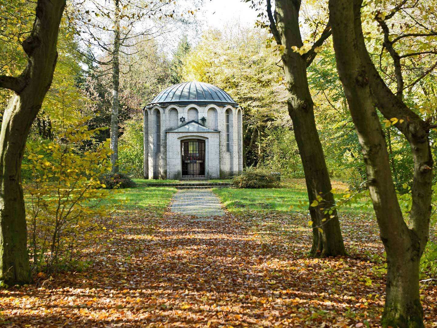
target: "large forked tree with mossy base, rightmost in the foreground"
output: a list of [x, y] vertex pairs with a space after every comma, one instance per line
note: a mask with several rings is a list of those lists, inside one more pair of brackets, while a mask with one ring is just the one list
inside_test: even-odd
[[[372, 6], [377, 6], [378, 3]], [[429, 10], [416, 8], [418, 1], [403, 0], [389, 10], [378, 7], [372, 12], [373, 19], [382, 30], [386, 49], [392, 59], [395, 90], [382, 79], [372, 63], [364, 42], [362, 28], [362, 0], [329, 0], [329, 17], [332, 24], [333, 43], [337, 70], [347, 97], [350, 113], [361, 144], [367, 170], [367, 184], [375, 209], [381, 240], [387, 253], [387, 278], [385, 308], [382, 315], [384, 327], [423, 327], [422, 306], [419, 291], [420, 257], [427, 244], [431, 213], [432, 167], [430, 149], [431, 118], [417, 113], [402, 97], [406, 86], [402, 72], [402, 60], [409, 56], [437, 53], [431, 41], [437, 35], [426, 20], [420, 22]], [[422, 4], [423, 5], [423, 4]], [[420, 5], [420, 6], [422, 6]], [[390, 19], [402, 12], [405, 27], [415, 26], [416, 31], [392, 35]], [[412, 24], [408, 23], [411, 19]], [[396, 24], [397, 25], [397, 24]], [[395, 42], [412, 37], [430, 38], [430, 42], [413, 51], [400, 53]], [[427, 47], [429, 47], [427, 49]], [[434, 66], [431, 66], [430, 71]], [[421, 74], [423, 75], [423, 74]], [[419, 76], [416, 83], [423, 76]], [[388, 126], [393, 125], [408, 140], [414, 161], [411, 186], [411, 209], [404, 216], [399, 206], [390, 169], [389, 154], [384, 131], [378, 119], [377, 109], [384, 115]]]

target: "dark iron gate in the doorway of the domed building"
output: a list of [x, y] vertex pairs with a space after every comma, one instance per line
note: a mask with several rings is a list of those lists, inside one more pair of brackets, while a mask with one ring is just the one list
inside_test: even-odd
[[182, 142], [182, 178], [205, 178], [205, 141]]

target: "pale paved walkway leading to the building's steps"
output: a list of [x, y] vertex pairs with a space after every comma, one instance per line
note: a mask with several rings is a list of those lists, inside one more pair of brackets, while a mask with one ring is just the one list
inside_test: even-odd
[[225, 215], [217, 196], [209, 189], [178, 191], [173, 195], [171, 211], [197, 217]]

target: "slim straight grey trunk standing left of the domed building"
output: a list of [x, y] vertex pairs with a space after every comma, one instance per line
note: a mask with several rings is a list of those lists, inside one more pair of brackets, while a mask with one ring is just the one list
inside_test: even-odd
[[115, 0], [114, 49], [112, 52], [112, 107], [111, 107], [111, 172], [118, 173], [118, 111], [120, 88], [120, 10]]

